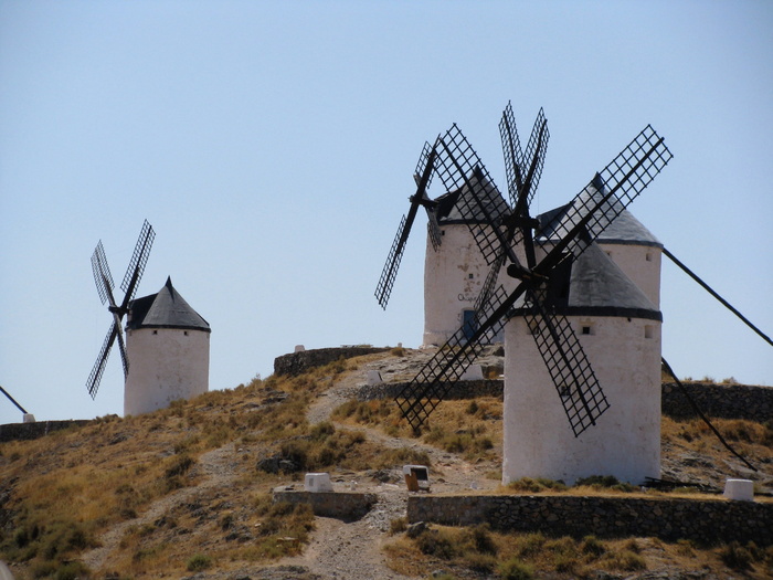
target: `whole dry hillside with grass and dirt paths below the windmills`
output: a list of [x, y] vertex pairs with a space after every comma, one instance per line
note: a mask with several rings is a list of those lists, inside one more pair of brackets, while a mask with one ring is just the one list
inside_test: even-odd
[[[551, 578], [596, 572], [763, 578], [773, 563], [770, 549], [639, 538], [629, 539], [635, 549], [621, 542], [594, 548], [606, 560], [591, 561], [583, 552], [580, 573], [579, 563], [561, 568], [546, 560], [548, 552], [528, 556], [517, 548], [526, 540], [513, 535], [473, 530], [457, 537], [462, 531], [440, 529], [412, 540], [393, 534], [402, 529], [405, 512], [403, 464], [430, 464], [436, 493], [502, 493], [500, 400], [443, 403], [421, 439], [412, 436], [391, 401], [354, 400], [369, 370], [386, 381], [405, 380], [426, 356], [393, 349], [339, 360], [294, 378], [255, 378], [148, 415], [106, 416], [34, 441], [2, 443], [0, 559], [20, 579], [400, 579], [437, 570], [455, 574], [446, 578], [500, 578], [512, 553], [531, 558], [537, 577]], [[721, 488], [726, 477], [741, 475], [770, 491], [771, 425], [740, 420], [717, 425], [759, 473], [730, 456], [699, 422], [665, 419], [663, 477]], [[379, 500], [350, 523], [272, 504], [272, 488], [300, 488], [303, 474], [313, 471], [330, 472], [338, 491], [371, 491]], [[444, 557], [425, 549], [426, 538], [446, 536], [457, 548], [477, 538], [489, 551]], [[562, 541], [565, 551], [569, 540]], [[628, 563], [611, 555], [627, 555]]]

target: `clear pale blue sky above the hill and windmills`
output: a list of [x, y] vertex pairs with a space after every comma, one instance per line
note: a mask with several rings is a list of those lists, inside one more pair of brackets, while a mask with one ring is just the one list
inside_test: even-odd
[[[121, 413], [89, 257], [168, 275], [212, 326], [212, 389], [295, 345], [419, 346], [422, 228], [373, 291], [427, 139], [457, 123], [501, 188], [497, 123], [551, 131], [534, 210], [650, 123], [674, 160], [633, 213], [773, 334], [773, 2], [0, 0], [0, 386], [39, 420]], [[440, 193], [440, 191], [434, 192]], [[423, 224], [422, 224], [423, 225]], [[773, 384], [773, 350], [667, 261], [680, 377]], [[0, 398], [0, 423], [21, 413]]]

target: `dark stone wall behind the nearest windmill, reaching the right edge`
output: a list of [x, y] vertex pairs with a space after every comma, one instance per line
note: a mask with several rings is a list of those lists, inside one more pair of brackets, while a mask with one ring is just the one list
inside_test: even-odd
[[[773, 419], [773, 388], [745, 384], [682, 383], [698, 408], [709, 418]], [[664, 383], [663, 413], [675, 419], [698, 416], [687, 398], [675, 383]]]

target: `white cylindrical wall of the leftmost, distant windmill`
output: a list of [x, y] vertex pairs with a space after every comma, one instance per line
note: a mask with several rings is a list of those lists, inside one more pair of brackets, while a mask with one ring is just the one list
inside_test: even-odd
[[128, 330], [129, 376], [124, 415], [163, 409], [209, 390], [210, 333], [177, 328]]

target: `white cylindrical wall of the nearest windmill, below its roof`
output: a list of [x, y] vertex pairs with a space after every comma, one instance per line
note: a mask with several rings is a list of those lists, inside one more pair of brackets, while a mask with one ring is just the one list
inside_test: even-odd
[[[525, 320], [508, 321], [502, 482], [547, 477], [571, 485], [579, 477], [614, 475], [638, 484], [659, 477], [660, 323], [570, 320], [611, 407], [574, 437]], [[590, 336], [581, 334], [586, 325]]]

